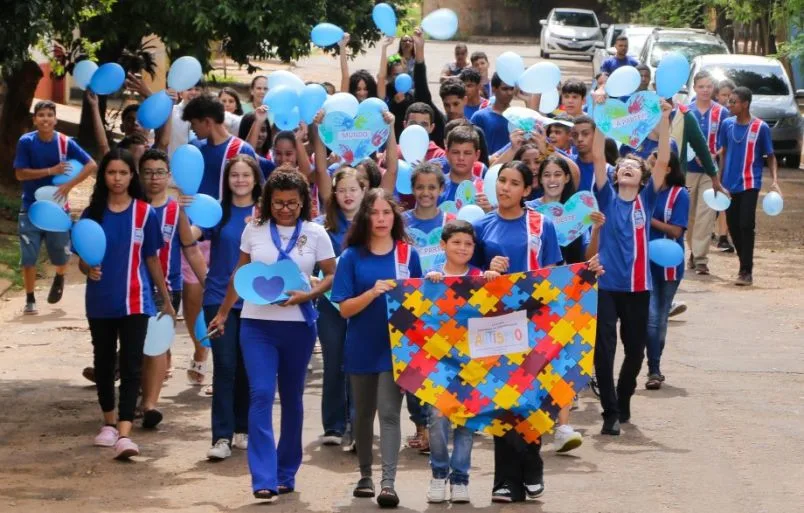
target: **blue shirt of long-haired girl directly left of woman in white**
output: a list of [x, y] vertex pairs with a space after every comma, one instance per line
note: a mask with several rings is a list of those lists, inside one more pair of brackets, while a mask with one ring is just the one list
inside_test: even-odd
[[[215, 306], [223, 303], [229, 278], [240, 260], [240, 239], [246, 229], [246, 219], [251, 217], [254, 206], [236, 207], [232, 205], [231, 215], [223, 226], [205, 228], [204, 239], [210, 241], [209, 270], [204, 288], [204, 306]], [[232, 307], [243, 308], [243, 299], [237, 300]]]

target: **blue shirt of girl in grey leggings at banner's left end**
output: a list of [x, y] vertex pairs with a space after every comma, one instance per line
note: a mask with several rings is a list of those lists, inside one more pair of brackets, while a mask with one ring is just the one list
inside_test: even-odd
[[[421, 278], [419, 254], [408, 246], [411, 278]], [[396, 251], [375, 255], [366, 248], [350, 247], [341, 253], [331, 300], [341, 303], [374, 288], [377, 280], [397, 279]], [[362, 312], [349, 318], [344, 346], [347, 374], [375, 374], [391, 371], [391, 338], [384, 296], [375, 298]]]

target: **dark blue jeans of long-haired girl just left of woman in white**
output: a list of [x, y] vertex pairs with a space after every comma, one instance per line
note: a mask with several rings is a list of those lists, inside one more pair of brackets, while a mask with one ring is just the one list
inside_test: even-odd
[[[212, 319], [220, 305], [204, 306], [204, 317]], [[212, 444], [235, 433], [248, 433], [248, 379], [240, 351], [240, 310], [232, 309], [223, 335], [212, 343]]]

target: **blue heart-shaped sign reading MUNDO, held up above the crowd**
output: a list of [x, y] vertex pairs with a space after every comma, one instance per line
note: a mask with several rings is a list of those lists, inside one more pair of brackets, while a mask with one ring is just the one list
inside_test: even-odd
[[318, 134], [327, 148], [347, 164], [371, 156], [385, 144], [389, 133], [382, 112], [370, 104], [366, 108], [358, 108], [355, 117], [343, 112], [330, 112], [318, 126]]

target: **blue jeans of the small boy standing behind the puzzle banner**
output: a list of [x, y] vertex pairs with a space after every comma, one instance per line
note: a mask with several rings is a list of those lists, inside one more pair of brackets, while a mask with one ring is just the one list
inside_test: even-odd
[[[472, 430], [465, 426], [452, 429], [452, 423], [440, 411], [431, 408], [430, 468], [433, 478], [446, 479], [451, 484], [469, 484], [472, 462]], [[452, 431], [452, 457], [449, 454], [449, 432]]]

